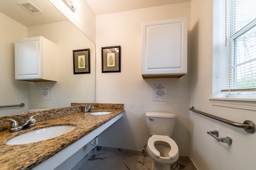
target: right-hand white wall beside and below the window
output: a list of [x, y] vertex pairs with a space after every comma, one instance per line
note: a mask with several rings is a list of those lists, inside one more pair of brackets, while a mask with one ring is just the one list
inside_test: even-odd
[[[190, 106], [195, 109], [243, 123], [256, 122], [255, 111], [212, 106], [212, 15], [213, 0], [191, 1]], [[220, 137], [231, 137], [232, 145], [218, 143], [207, 131], [218, 130]], [[255, 169], [256, 135], [190, 111], [190, 156], [199, 170]]]

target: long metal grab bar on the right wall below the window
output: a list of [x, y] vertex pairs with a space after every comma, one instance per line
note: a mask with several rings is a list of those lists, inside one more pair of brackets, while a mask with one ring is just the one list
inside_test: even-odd
[[218, 120], [218, 121], [221, 121], [221, 122], [224, 122], [224, 123], [227, 123], [229, 125], [232, 125], [234, 127], [239, 127], [239, 128], [243, 128], [246, 132], [248, 133], [255, 133], [255, 130], [256, 130], [256, 127], [255, 127], [255, 124], [253, 121], [250, 121], [250, 120], [246, 120], [244, 121], [244, 123], [237, 123], [237, 122], [234, 122], [234, 121], [230, 121], [230, 120], [227, 120], [227, 119], [223, 119], [221, 117], [218, 117], [218, 116], [214, 116], [214, 115], [210, 115], [208, 113], [204, 113], [202, 111], [198, 111], [198, 110], [195, 110], [194, 109], [194, 106], [192, 106], [191, 108], [189, 108], [189, 110], [191, 111], [194, 111], [196, 113], [199, 113], [201, 115], [205, 115], [207, 117], [210, 117], [212, 119], [215, 119], [215, 120]]

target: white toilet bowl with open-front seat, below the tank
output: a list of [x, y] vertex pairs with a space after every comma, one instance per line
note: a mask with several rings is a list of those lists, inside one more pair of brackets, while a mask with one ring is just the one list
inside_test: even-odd
[[154, 160], [152, 170], [170, 170], [170, 165], [179, 158], [178, 146], [173, 139], [163, 135], [153, 135], [148, 139], [147, 151]]

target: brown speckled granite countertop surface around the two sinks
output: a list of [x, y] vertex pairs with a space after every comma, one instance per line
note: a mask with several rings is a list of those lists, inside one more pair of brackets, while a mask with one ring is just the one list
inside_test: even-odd
[[[76, 106], [73, 106], [76, 107]], [[67, 107], [66, 107], [67, 108]], [[111, 109], [110, 109], [111, 108]], [[91, 112], [110, 111], [106, 115], [90, 115], [80, 111], [70, 115], [50, 118], [36, 122], [36, 126], [18, 132], [9, 132], [8, 129], [0, 131], [0, 169], [1, 170], [29, 170], [50, 158], [60, 150], [65, 149], [78, 141], [91, 131], [100, 127], [110, 119], [124, 111], [123, 108], [101, 107], [92, 109]], [[49, 111], [48, 111], [49, 112]], [[61, 111], [60, 111], [61, 112]], [[36, 119], [36, 117], [34, 117]], [[58, 125], [74, 125], [76, 128], [64, 135], [24, 145], [6, 145], [6, 141], [36, 129]]]

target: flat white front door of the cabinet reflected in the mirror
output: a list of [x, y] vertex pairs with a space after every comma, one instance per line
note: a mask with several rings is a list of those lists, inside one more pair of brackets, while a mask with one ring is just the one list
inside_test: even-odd
[[15, 79], [41, 78], [42, 39], [33, 37], [17, 40], [15, 48]]

